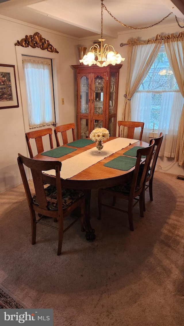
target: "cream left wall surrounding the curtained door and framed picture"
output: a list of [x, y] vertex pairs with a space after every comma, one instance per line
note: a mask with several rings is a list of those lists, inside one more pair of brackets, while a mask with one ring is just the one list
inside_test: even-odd
[[[56, 110], [58, 110], [59, 124], [65, 124], [75, 121], [74, 71], [71, 65], [78, 63], [77, 45], [79, 41], [76, 38], [59, 35], [59, 33], [11, 20], [5, 16], [0, 16], [0, 30], [3, 31], [1, 33], [0, 63], [15, 65], [19, 98], [19, 108], [0, 110], [0, 192], [2, 192], [22, 182], [17, 156], [18, 153], [28, 156], [21, 100], [24, 94], [21, 94], [19, 84], [15, 50], [17, 47], [14, 43], [24, 38], [25, 35], [33, 35], [35, 32], [39, 32], [59, 51], [59, 69], [57, 69], [59, 98]], [[32, 51], [34, 52], [34, 49]], [[35, 55], [37, 51], [43, 52], [41, 49], [35, 49]], [[47, 52], [48, 58], [51, 57], [51, 53], [47, 50], [44, 50], [45, 52]], [[64, 97], [64, 105], [61, 105], [62, 97]]]

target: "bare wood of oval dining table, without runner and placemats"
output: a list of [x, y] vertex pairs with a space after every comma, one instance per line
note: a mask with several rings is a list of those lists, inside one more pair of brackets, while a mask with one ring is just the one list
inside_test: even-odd
[[[110, 137], [108, 141], [115, 139], [117, 137]], [[70, 147], [67, 145], [63, 145], [64, 147]], [[122, 171], [117, 169], [112, 169], [104, 166], [104, 163], [109, 162], [113, 158], [123, 155], [128, 149], [134, 146], [142, 146], [148, 147], [149, 144], [144, 141], [137, 141], [129, 146], [121, 149], [120, 151], [104, 158], [103, 160], [99, 161], [98, 163], [93, 164], [89, 168], [81, 171], [80, 173], [76, 174], [70, 179], [62, 179], [61, 178], [61, 185], [65, 188], [73, 188], [73, 189], [82, 189], [85, 192], [85, 221], [84, 221], [84, 230], [86, 231], [86, 239], [92, 241], [95, 239], [95, 230], [92, 229], [90, 223], [90, 199], [91, 199], [91, 189], [98, 189], [98, 188], [105, 188], [111, 187], [115, 185], [119, 185], [123, 182], [126, 182], [128, 179], [131, 178], [132, 171], [134, 167], [128, 171]], [[64, 161], [67, 158], [73, 157], [78, 155], [88, 149], [95, 147], [95, 142], [87, 145], [85, 147], [77, 148], [75, 152], [67, 154], [62, 157], [50, 157], [44, 156], [41, 154], [37, 154], [34, 159], [42, 160], [42, 161]], [[73, 148], [76, 148], [75, 146]], [[103, 151], [103, 149], [102, 149]], [[43, 152], [44, 153], [44, 152]], [[62, 167], [61, 167], [62, 173]], [[52, 175], [43, 174], [43, 181], [45, 183], [56, 185], [56, 178]]]

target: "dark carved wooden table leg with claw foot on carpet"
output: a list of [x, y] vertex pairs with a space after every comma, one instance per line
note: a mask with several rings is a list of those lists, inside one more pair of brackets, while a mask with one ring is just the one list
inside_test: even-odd
[[95, 230], [92, 229], [90, 223], [90, 200], [91, 200], [91, 189], [84, 190], [85, 193], [85, 219], [84, 219], [84, 230], [86, 231], [86, 240], [93, 241], [96, 238]]

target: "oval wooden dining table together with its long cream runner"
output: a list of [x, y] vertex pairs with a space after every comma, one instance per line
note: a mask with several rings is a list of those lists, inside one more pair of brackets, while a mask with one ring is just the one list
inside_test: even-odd
[[[118, 140], [116, 140], [118, 139]], [[88, 138], [89, 140], [89, 138]], [[114, 141], [116, 140], [116, 141]], [[118, 142], [118, 147], [115, 144]], [[76, 142], [70, 143], [70, 145], [62, 145], [60, 147], [71, 148], [73, 151], [66, 155], [60, 157], [47, 156], [48, 151], [34, 156], [34, 159], [42, 161], [60, 161], [62, 162], [61, 166], [61, 186], [70, 189], [82, 189], [85, 194], [85, 219], [84, 219], [84, 230], [86, 231], [86, 239], [88, 241], [93, 241], [95, 239], [95, 230], [91, 226], [90, 222], [90, 200], [91, 200], [91, 190], [106, 188], [115, 185], [125, 183], [132, 177], [133, 170], [135, 165], [132, 166], [129, 170], [120, 170], [119, 168], [112, 168], [104, 166], [104, 164], [109, 164], [115, 158], [124, 157], [124, 153], [130, 150], [131, 148], [138, 147], [148, 147], [149, 144], [144, 141], [132, 140], [118, 137], [109, 137], [109, 139], [104, 143], [104, 148], [99, 152], [96, 148], [95, 142], [87, 144], [83, 147], [76, 147]], [[106, 145], [107, 144], [107, 145]], [[74, 145], [74, 146], [73, 146]], [[108, 152], [107, 148], [111, 145], [111, 151]], [[121, 149], [119, 149], [121, 147]], [[123, 147], [123, 148], [122, 148]], [[59, 149], [59, 147], [57, 147]], [[119, 149], [119, 150], [117, 150]], [[60, 150], [63, 150], [63, 148]], [[53, 150], [51, 150], [53, 151]], [[49, 152], [51, 152], [49, 151]], [[67, 150], [66, 150], [67, 151]], [[49, 153], [48, 152], [48, 153]], [[114, 152], [114, 153], [112, 153]], [[82, 154], [83, 153], [83, 154]], [[85, 154], [84, 154], [85, 153]], [[110, 155], [109, 155], [110, 153]], [[112, 153], [112, 154], [111, 154]], [[50, 154], [49, 154], [50, 155]], [[52, 155], [52, 154], [51, 154]], [[60, 154], [59, 154], [60, 155]], [[86, 156], [88, 155], [88, 156]], [[108, 156], [106, 156], [108, 155]], [[127, 154], [128, 155], [128, 154]], [[106, 157], [104, 157], [106, 156]], [[87, 158], [86, 158], [87, 157]], [[128, 157], [128, 156], [126, 156]], [[98, 161], [97, 161], [98, 160]], [[64, 162], [66, 161], [66, 162]], [[96, 162], [97, 161], [97, 162]], [[142, 159], [142, 162], [144, 159]], [[87, 165], [88, 162], [88, 166]], [[95, 163], [94, 163], [95, 162]], [[142, 163], [141, 162], [141, 163]], [[79, 171], [77, 171], [77, 166], [79, 166]], [[88, 166], [88, 167], [86, 167]], [[64, 168], [63, 168], [64, 167]], [[63, 168], [63, 170], [62, 170]], [[73, 174], [70, 173], [73, 168]], [[65, 171], [64, 171], [65, 170]], [[69, 175], [67, 177], [67, 170]], [[54, 170], [53, 170], [54, 171]], [[43, 171], [42, 177], [43, 181], [46, 184], [56, 185], [56, 177], [54, 173], [49, 173], [50, 171]], [[62, 173], [63, 172], [63, 173]], [[64, 173], [66, 172], [66, 173]], [[77, 214], [77, 213], [76, 213]]]

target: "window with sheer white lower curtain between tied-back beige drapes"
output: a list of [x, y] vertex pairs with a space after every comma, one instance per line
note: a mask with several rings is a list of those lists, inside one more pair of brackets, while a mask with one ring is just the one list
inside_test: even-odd
[[[167, 133], [176, 108], [180, 117], [184, 100], [170, 67], [164, 47], [138, 91], [131, 100], [131, 120], [144, 121], [147, 130], [162, 129]], [[178, 119], [179, 123], [179, 119]]]

